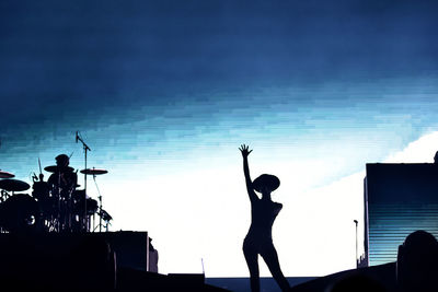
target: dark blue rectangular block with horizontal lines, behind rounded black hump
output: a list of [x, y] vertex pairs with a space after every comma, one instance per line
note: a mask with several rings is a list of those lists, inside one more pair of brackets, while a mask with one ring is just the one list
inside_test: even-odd
[[367, 164], [365, 256], [358, 266], [396, 261], [399, 245], [424, 230], [438, 237], [438, 165]]

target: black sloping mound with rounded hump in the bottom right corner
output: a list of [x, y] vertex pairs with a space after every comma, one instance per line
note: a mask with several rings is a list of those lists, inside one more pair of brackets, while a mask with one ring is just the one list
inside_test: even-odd
[[342, 271], [291, 289], [292, 292], [433, 292], [438, 291], [438, 242], [430, 233], [411, 233], [399, 246], [397, 260]]

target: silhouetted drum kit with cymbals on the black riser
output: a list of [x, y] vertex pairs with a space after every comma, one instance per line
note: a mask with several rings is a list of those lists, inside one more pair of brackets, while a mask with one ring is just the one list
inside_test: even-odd
[[[33, 175], [32, 194], [23, 194], [31, 185], [15, 179], [14, 174], [0, 171], [0, 232], [94, 232], [108, 231], [112, 217], [102, 208], [95, 177], [108, 172], [84, 168], [80, 173], [92, 176], [99, 191], [97, 200], [79, 189], [77, 172], [70, 166], [44, 167], [50, 173], [47, 182], [39, 163], [39, 177]], [[20, 194], [18, 194], [20, 192]], [[95, 215], [99, 224], [95, 225]]]

